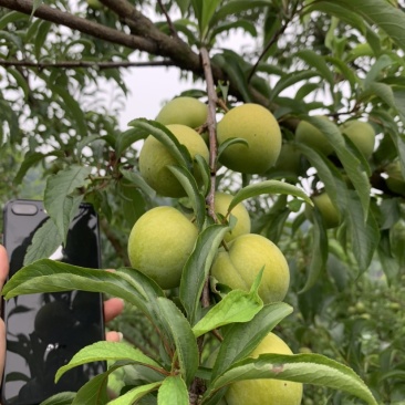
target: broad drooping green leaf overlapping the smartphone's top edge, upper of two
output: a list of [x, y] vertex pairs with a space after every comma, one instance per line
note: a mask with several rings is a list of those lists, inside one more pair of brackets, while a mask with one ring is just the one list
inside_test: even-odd
[[83, 196], [74, 197], [72, 194], [86, 185], [90, 174], [90, 167], [72, 165], [48, 178], [43, 204], [64, 242], [70, 224], [83, 199]]

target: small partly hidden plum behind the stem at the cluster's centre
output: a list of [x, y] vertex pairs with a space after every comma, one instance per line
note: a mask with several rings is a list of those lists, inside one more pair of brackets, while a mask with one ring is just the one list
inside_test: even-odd
[[[226, 193], [217, 191], [215, 194], [215, 211], [225, 217], [228, 212], [229, 204], [232, 200], [232, 196]], [[231, 215], [235, 216], [238, 221], [236, 222], [233, 229], [225, 236], [225, 241], [229, 242], [232, 239], [237, 238], [240, 235], [250, 232], [250, 217], [249, 212], [243, 206], [243, 204], [239, 202], [232, 210]], [[228, 217], [229, 220], [229, 217]]]

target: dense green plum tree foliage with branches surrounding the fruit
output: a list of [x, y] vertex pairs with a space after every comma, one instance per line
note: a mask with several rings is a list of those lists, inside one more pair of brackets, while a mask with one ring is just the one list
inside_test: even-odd
[[[142, 350], [124, 343], [84, 349], [68, 368], [107, 359], [108, 371], [75, 397], [66, 393], [46, 404], [95, 404], [90, 399], [95, 394], [106, 403], [108, 377], [122, 394], [112, 404], [141, 398], [217, 404], [228, 384], [247, 377], [302, 382], [308, 405], [405, 401], [401, 1], [101, 0], [94, 7], [90, 0], [0, 0], [0, 200], [42, 198], [51, 217], [33, 240], [27, 267], [3, 293], [74, 287], [121, 297], [133, 307], [114, 326]], [[250, 38], [251, 45], [240, 49], [235, 34]], [[201, 156], [193, 160], [169, 129], [136, 111], [122, 127], [120, 108], [128, 92], [123, 69], [144, 64], [174, 65], [205, 81], [206, 91], [184, 95], [210, 110], [197, 128], [208, 134], [209, 163]], [[159, 97], [158, 83], [153, 91]], [[240, 103], [269, 108], [283, 145], [297, 154], [260, 175], [218, 165], [225, 149], [243, 145], [232, 138], [218, 146], [215, 136], [217, 121]], [[375, 133], [371, 156], [344, 129], [357, 120]], [[311, 134], [322, 133], [331, 152], [300, 139], [302, 123]], [[139, 149], [148, 135], [176, 159], [169, 170], [186, 197], [159, 196], [141, 176]], [[217, 189], [233, 195], [224, 221], [211, 212]], [[323, 193], [338, 212], [335, 227], [310, 198]], [[44, 259], [65, 239], [81, 201], [95, 206], [103, 261], [118, 271], [100, 276]], [[277, 243], [288, 259], [285, 302], [262, 302], [260, 276], [248, 292], [229, 291], [209, 277], [239, 202], [249, 209], [252, 232]], [[129, 269], [126, 253], [133, 225], [158, 205], [194, 216], [199, 230], [179, 288], [167, 292]], [[249, 359], [273, 329], [302, 354]], [[218, 345], [214, 365], [206, 364]]]

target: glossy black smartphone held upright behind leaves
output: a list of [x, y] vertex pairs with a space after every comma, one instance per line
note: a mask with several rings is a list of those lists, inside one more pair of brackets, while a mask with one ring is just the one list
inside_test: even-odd
[[[11, 200], [3, 210], [3, 245], [12, 277], [23, 266], [35, 231], [46, 221], [42, 201]], [[82, 204], [74, 217], [65, 246], [50, 259], [100, 269], [97, 216]], [[72, 368], [54, 383], [58, 368], [82, 347], [104, 340], [101, 293], [69, 291], [19, 295], [2, 301], [7, 352], [1, 386], [2, 405], [38, 405], [60, 392], [76, 392], [105, 371], [95, 362]]]

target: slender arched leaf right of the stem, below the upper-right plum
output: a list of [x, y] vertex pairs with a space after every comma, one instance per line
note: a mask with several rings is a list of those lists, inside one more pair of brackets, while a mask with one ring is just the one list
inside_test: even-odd
[[287, 194], [303, 199], [312, 205], [311, 198], [298, 187], [279, 180], [266, 180], [241, 188], [229, 204], [227, 215], [241, 201], [247, 198], [260, 196], [261, 194]]

